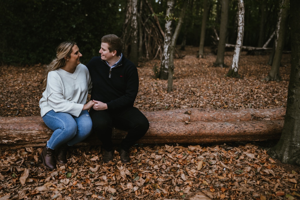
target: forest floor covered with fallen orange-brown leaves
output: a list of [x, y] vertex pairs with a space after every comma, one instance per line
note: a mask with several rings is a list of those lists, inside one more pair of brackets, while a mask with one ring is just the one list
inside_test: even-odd
[[[268, 55], [246, 55], [241, 79], [228, 68], [212, 67], [216, 55], [187, 46], [175, 59], [174, 91], [154, 78], [159, 60], [140, 63], [135, 106], [142, 111], [180, 108], [265, 109], [286, 107], [290, 54], [283, 54], [280, 82], [265, 82]], [[225, 53], [230, 66], [233, 52]], [[1, 66], [0, 116], [40, 115], [44, 66]], [[188, 142], [188, 141], [187, 141]], [[71, 148], [69, 163], [49, 171], [41, 148], [0, 148], [0, 200], [6, 199], [300, 199], [300, 168], [267, 154], [276, 141], [219, 144], [135, 145], [131, 163], [118, 153], [102, 164], [99, 146]]]

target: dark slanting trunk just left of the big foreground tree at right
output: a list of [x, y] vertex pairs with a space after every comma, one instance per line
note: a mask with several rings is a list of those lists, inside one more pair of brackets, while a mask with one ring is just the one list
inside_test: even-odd
[[281, 80], [280, 73], [279, 73], [279, 67], [280, 67], [280, 61], [281, 61], [283, 47], [284, 47], [284, 40], [285, 40], [285, 34], [286, 34], [287, 25], [288, 25], [288, 20], [289, 20], [289, 0], [284, 0], [283, 9], [282, 9], [282, 13], [281, 13], [281, 20], [280, 20], [276, 50], [275, 50], [274, 59], [273, 59], [270, 73], [265, 78], [266, 81], [280, 81]]

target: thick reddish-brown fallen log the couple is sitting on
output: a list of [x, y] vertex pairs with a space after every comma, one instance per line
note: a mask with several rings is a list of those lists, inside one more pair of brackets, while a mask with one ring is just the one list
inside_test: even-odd
[[[150, 128], [137, 143], [217, 143], [279, 139], [285, 109], [179, 109], [143, 113]], [[40, 116], [0, 117], [0, 147], [40, 147], [51, 134], [52, 130]], [[125, 131], [113, 129], [115, 143], [125, 136]], [[92, 134], [78, 146], [99, 144], [100, 140]]]

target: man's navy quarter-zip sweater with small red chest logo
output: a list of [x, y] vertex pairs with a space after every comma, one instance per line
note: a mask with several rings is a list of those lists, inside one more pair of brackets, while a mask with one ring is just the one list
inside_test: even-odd
[[108, 111], [117, 111], [134, 105], [139, 90], [137, 67], [127, 58], [110, 68], [101, 56], [93, 57], [86, 65], [93, 84], [91, 100], [107, 104]]

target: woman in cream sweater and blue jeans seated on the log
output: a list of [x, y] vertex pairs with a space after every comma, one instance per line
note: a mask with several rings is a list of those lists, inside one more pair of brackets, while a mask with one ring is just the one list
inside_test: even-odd
[[95, 103], [86, 103], [92, 83], [88, 69], [79, 61], [81, 56], [76, 43], [63, 42], [56, 49], [56, 58], [46, 66], [40, 108], [45, 124], [54, 132], [41, 153], [41, 161], [48, 169], [56, 168], [55, 149], [56, 161], [66, 164], [68, 147], [91, 133], [88, 109]]

